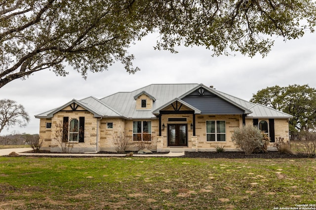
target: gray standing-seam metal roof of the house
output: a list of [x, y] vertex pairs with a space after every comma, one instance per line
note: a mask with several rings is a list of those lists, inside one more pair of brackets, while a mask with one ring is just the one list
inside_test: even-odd
[[[210, 89], [203, 84], [153, 84], [131, 92], [118, 92], [101, 99], [97, 99], [93, 96], [82, 100], [73, 99], [59, 108], [41, 113], [35, 117], [51, 118], [54, 113], [60, 111], [69, 104], [76, 102], [93, 113], [95, 117], [152, 119], [156, 118], [154, 114], [157, 114], [158, 110], [164, 108], [166, 104], [182, 99], [186, 95], [197, 90], [199, 87], [203, 87], [205, 90], [212, 92], [222, 100], [233, 104], [240, 110], [243, 110], [245, 114], [248, 114], [247, 118], [292, 118], [291, 115], [260, 104], [251, 103], [215, 89]], [[136, 110], [135, 96], [139, 96], [143, 93], [154, 99], [151, 110]], [[190, 107], [190, 104], [186, 105]], [[194, 107], [192, 107], [192, 109], [198, 111], [198, 109]]]

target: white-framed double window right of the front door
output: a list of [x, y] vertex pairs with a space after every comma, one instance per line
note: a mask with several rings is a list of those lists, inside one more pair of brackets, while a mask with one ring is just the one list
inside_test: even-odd
[[206, 121], [206, 141], [207, 142], [225, 142], [226, 141], [225, 120]]

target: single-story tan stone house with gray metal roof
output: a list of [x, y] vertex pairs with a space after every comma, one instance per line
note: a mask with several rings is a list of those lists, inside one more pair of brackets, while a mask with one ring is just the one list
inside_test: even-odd
[[292, 118], [203, 84], [153, 84], [101, 99], [73, 99], [35, 117], [40, 119], [43, 150], [59, 150], [60, 125], [64, 141], [74, 145], [72, 152], [115, 151], [118, 134], [134, 143], [147, 141], [157, 151], [211, 151], [218, 145], [236, 150], [231, 140], [235, 128], [253, 124], [271, 142], [289, 140]]

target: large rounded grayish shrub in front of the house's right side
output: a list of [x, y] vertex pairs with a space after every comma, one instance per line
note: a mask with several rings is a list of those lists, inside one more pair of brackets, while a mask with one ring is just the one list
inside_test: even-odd
[[242, 149], [245, 154], [251, 154], [255, 150], [263, 150], [265, 143], [262, 139], [261, 131], [253, 125], [236, 128], [232, 135], [232, 141], [236, 147]]

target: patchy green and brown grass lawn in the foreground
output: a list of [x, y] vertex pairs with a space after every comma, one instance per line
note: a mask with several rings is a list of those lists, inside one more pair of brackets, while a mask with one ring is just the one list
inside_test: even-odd
[[316, 209], [316, 159], [0, 157], [0, 209]]

